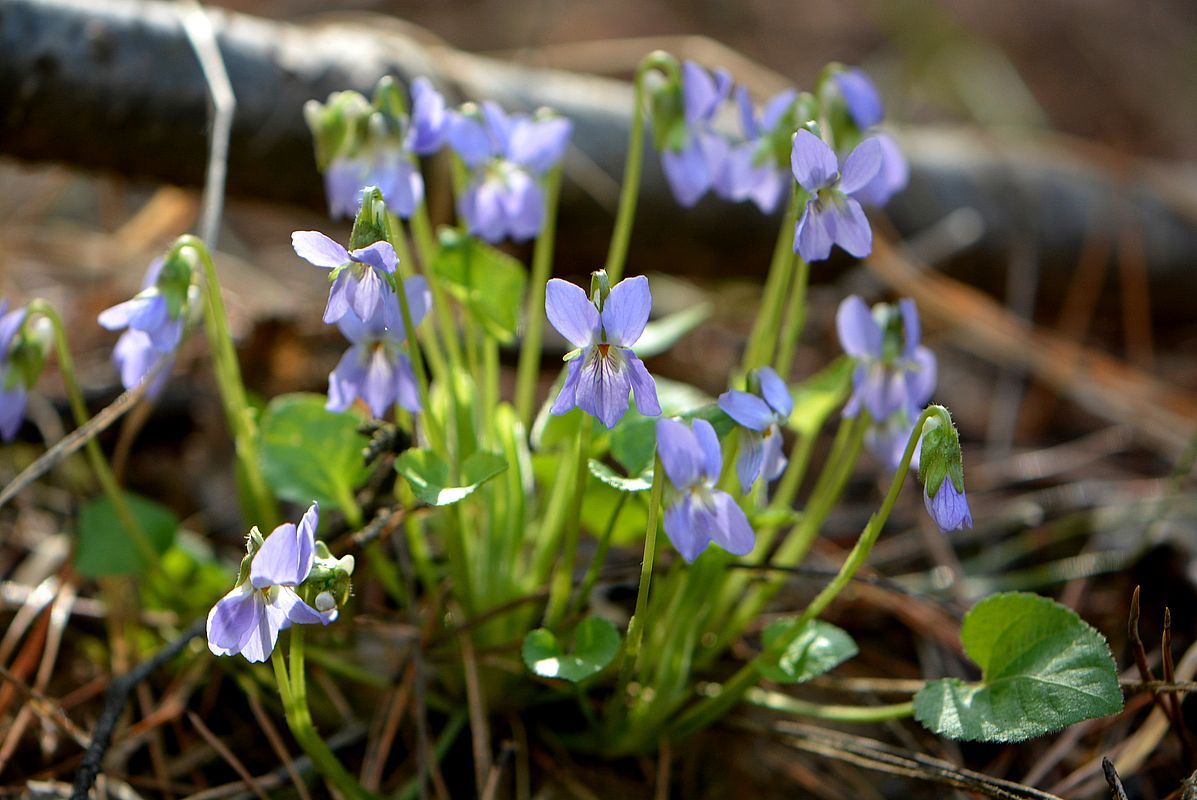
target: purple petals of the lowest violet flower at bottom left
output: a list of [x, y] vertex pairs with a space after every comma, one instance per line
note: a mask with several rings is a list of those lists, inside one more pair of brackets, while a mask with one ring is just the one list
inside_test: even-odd
[[215, 655], [266, 661], [279, 631], [292, 624], [310, 625], [336, 619], [336, 610], [320, 612], [304, 602], [296, 587], [308, 580], [316, 557], [320, 509], [311, 504], [296, 526], [285, 522], [271, 532], [253, 553], [248, 580], [217, 601], [208, 612], [208, 649]]

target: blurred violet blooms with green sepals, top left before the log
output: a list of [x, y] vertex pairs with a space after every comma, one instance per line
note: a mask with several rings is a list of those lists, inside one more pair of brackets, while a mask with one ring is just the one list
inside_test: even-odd
[[440, 150], [446, 133], [444, 97], [426, 78], [412, 81], [411, 114], [395, 83], [384, 79], [373, 104], [357, 92], [336, 92], [327, 103], [310, 101], [304, 115], [334, 219], [352, 218], [367, 186], [377, 186], [388, 208], [405, 219], [424, 201], [417, 157]]

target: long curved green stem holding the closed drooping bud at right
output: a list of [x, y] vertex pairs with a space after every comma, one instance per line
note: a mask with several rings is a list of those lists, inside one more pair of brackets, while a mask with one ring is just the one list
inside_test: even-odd
[[906, 451], [903, 453], [901, 462], [898, 465], [898, 471], [894, 473], [894, 477], [889, 483], [889, 491], [886, 493], [886, 497], [881, 503], [881, 508], [871, 517], [869, 517], [869, 522], [864, 526], [864, 531], [861, 533], [861, 538], [857, 540], [856, 546], [852, 547], [852, 552], [847, 554], [847, 558], [839, 568], [839, 572], [836, 577], [832, 578], [832, 582], [828, 583], [813, 601], [810, 601], [810, 605], [806, 607], [802, 614], [795, 620], [794, 626], [789, 629], [786, 634], [779, 636], [770, 647], [757, 655], [757, 657], [741, 667], [730, 680], [723, 684], [719, 691], [709, 695], [695, 707], [682, 714], [676, 725], [679, 734], [688, 735], [700, 731], [723, 716], [723, 714], [735, 705], [743, 697], [745, 692], [757, 683], [760, 674], [760, 665], [767, 661], [773, 661], [779, 655], [785, 653], [786, 648], [789, 648], [790, 644], [792, 644], [794, 641], [802, 634], [802, 629], [806, 628], [810, 620], [821, 614], [827, 606], [830, 606], [832, 601], [839, 596], [839, 593], [843, 592], [844, 588], [852, 581], [861, 566], [863, 566], [864, 562], [868, 559], [869, 552], [876, 544], [877, 538], [880, 538], [881, 531], [885, 528], [886, 521], [888, 521], [889, 514], [893, 511], [894, 504], [898, 502], [898, 495], [901, 493], [903, 484], [906, 481], [906, 473], [910, 471], [910, 460], [915, 455], [915, 447], [918, 444], [918, 440], [923, 435], [923, 425], [925, 425], [926, 420], [935, 414], [938, 414], [941, 420], [946, 424], [950, 424], [950, 418], [948, 418], [947, 411], [941, 406], [930, 406], [924, 410], [922, 414], [919, 414], [918, 420], [915, 423], [915, 429], [911, 431], [910, 440], [906, 442]]

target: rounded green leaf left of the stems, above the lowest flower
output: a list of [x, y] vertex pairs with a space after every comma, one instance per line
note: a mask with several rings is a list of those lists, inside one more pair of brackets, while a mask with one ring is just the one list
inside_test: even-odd
[[358, 432], [357, 417], [328, 411], [324, 402], [320, 394], [271, 401], [260, 423], [262, 475], [284, 499], [352, 508], [353, 489], [365, 480], [361, 451], [369, 441]]

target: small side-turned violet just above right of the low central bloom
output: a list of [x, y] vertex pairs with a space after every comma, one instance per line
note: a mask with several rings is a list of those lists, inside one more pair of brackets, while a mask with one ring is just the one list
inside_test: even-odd
[[761, 474], [766, 481], [782, 475], [786, 465], [782, 451], [782, 425], [794, 412], [794, 398], [777, 372], [761, 366], [757, 370], [757, 380], [760, 396], [735, 389], [719, 395], [719, 408], [742, 426], [736, 475], [745, 493], [752, 490]]

